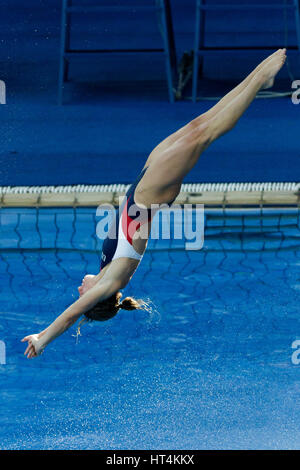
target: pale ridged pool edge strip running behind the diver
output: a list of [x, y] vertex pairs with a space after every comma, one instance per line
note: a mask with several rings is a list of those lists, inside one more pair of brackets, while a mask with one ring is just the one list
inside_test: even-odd
[[[118, 204], [129, 185], [0, 186], [0, 206], [98, 206]], [[181, 187], [178, 204], [297, 205], [300, 183], [187, 183]]]

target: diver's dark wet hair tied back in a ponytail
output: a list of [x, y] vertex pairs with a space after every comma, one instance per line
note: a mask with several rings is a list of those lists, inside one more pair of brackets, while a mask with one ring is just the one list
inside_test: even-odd
[[108, 299], [103, 302], [99, 302], [88, 312], [85, 313], [85, 317], [88, 320], [106, 321], [113, 318], [119, 310], [141, 310], [145, 309], [146, 302], [142, 300], [136, 300], [132, 297], [125, 297], [121, 302], [121, 292], [116, 292]]

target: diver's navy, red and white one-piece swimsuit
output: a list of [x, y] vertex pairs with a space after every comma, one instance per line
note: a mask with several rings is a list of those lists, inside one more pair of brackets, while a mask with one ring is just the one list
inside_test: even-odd
[[137, 206], [134, 201], [136, 187], [146, 170], [147, 168], [144, 168], [137, 180], [129, 187], [121, 207], [116, 211], [116, 216], [103, 242], [100, 270], [117, 258], [133, 258], [140, 261], [143, 257], [133, 248], [132, 239], [140, 226], [150, 222], [155, 213], [151, 209]]

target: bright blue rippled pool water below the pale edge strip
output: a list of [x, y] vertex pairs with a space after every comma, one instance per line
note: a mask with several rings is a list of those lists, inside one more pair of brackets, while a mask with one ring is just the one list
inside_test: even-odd
[[1, 449], [296, 449], [299, 211], [206, 213], [204, 247], [152, 241], [126, 293], [152, 313], [27, 360], [99, 265], [94, 209], [2, 209]]

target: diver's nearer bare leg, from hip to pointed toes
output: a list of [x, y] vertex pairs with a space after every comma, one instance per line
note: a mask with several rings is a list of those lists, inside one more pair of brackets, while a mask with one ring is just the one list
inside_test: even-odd
[[185, 175], [193, 168], [202, 152], [218, 137], [230, 131], [266, 82], [274, 79], [285, 62], [282, 51], [253, 76], [244, 90], [220, 112], [202, 122], [193, 120], [187, 132], [163, 150], [149, 166], [136, 189], [136, 202], [145, 204], [168, 202], [180, 191]]

